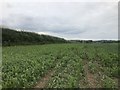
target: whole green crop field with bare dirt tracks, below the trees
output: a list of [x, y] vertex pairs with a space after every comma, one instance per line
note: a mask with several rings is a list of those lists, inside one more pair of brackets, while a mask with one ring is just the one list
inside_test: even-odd
[[3, 47], [3, 88], [117, 88], [118, 44]]

